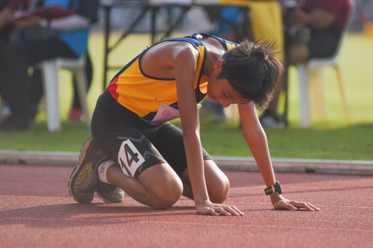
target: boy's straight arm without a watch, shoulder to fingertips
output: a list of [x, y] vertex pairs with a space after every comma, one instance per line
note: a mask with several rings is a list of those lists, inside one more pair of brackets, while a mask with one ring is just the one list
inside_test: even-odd
[[180, 46], [173, 54], [178, 107], [183, 128], [184, 145], [195, 208], [199, 214], [239, 215], [230, 206], [211, 203], [204, 177], [199, 118], [194, 93], [194, 77], [198, 51], [191, 45]]

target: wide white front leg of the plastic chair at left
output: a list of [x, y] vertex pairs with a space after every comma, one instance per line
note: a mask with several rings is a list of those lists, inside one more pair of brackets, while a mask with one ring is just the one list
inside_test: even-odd
[[58, 70], [55, 62], [42, 62], [42, 77], [46, 95], [47, 125], [50, 132], [61, 129], [58, 97]]

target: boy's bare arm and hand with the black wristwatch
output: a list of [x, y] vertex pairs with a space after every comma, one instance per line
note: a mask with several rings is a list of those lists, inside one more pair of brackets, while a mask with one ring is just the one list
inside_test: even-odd
[[[252, 103], [238, 104], [238, 110], [242, 122], [243, 136], [249, 145], [264, 182], [267, 187], [273, 186], [276, 184], [276, 178], [272, 167], [267, 136], [259, 122], [255, 106]], [[287, 200], [278, 192], [272, 193], [270, 196], [275, 209], [297, 210], [297, 208], [301, 207], [310, 211], [320, 211], [319, 208], [308, 202]]]

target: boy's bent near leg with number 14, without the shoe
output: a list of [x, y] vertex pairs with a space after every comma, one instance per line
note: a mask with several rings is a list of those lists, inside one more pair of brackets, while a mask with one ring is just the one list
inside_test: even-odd
[[140, 203], [164, 209], [180, 198], [183, 184], [150, 140], [157, 128], [117, 103], [107, 90], [98, 98], [91, 131], [114, 161], [106, 171], [107, 182]]

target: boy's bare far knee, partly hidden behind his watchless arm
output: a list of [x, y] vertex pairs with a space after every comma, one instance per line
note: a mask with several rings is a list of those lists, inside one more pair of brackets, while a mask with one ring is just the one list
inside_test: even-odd
[[[229, 195], [230, 187], [227, 176], [225, 176], [212, 160], [204, 160], [204, 174], [210, 201], [213, 203], [224, 202]], [[184, 186], [183, 195], [193, 199], [188, 169], [183, 172], [182, 181]]]

